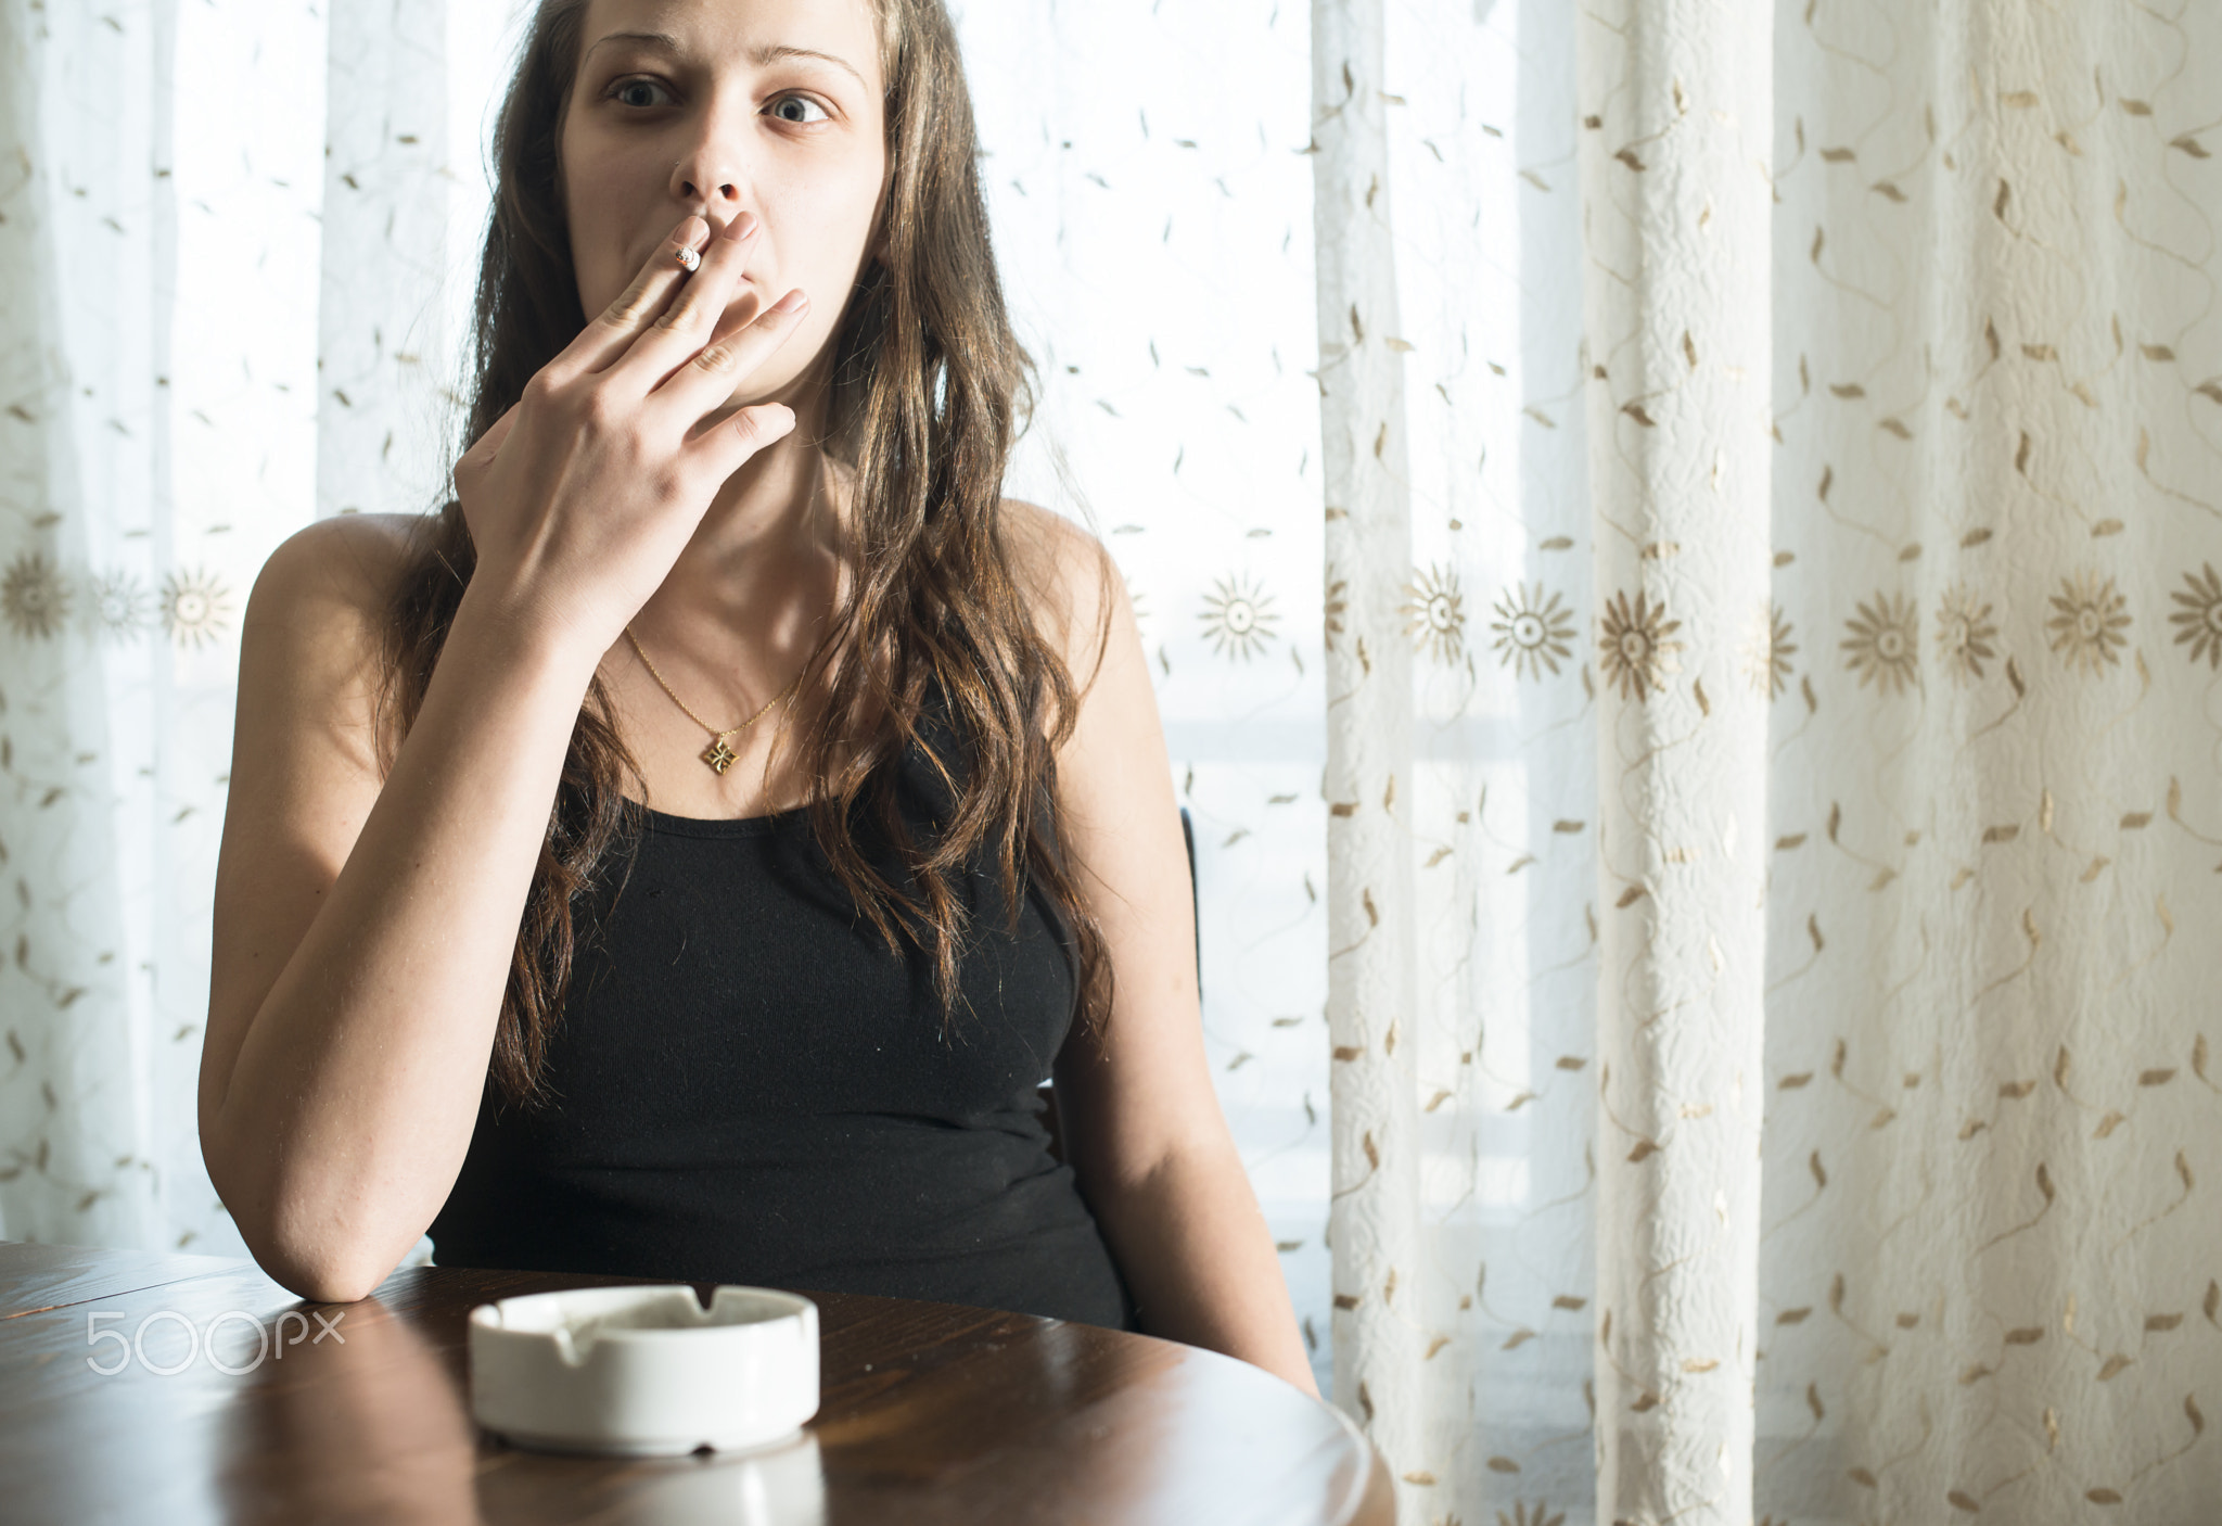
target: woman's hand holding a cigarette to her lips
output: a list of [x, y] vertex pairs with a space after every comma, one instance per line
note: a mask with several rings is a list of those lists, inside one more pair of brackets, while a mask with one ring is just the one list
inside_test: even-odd
[[[720, 324], [753, 233], [749, 213], [715, 233], [680, 222], [456, 464], [473, 589], [587, 660], [649, 602], [718, 486], [795, 426], [778, 402], [724, 406], [809, 307], [800, 289], [751, 295]], [[675, 255], [704, 238], [689, 275]]]

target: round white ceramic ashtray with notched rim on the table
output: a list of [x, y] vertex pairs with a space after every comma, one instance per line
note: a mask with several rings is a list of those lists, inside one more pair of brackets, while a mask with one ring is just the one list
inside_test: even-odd
[[791, 1437], [818, 1413], [818, 1304], [684, 1282], [471, 1311], [471, 1417], [536, 1450], [669, 1457]]

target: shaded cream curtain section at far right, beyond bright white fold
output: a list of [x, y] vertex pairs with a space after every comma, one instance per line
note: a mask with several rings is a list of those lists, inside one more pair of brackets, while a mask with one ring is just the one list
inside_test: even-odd
[[1760, 1499], [2209, 1519], [2222, 9], [1775, 60]]

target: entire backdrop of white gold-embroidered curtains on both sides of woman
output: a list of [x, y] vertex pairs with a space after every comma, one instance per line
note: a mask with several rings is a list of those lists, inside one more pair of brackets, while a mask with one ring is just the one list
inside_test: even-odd
[[[955, 9], [1404, 1519], [2200, 1519], [2222, 16]], [[516, 22], [0, 4], [9, 1237], [240, 1253], [238, 611], [442, 484]]]

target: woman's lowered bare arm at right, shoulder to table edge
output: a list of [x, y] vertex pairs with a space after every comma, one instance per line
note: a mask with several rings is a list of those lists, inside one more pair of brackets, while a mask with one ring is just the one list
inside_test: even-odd
[[1180, 804], [1124, 584], [1078, 526], [1031, 504], [1011, 509], [1022, 526], [1013, 542], [1042, 589], [1042, 626], [1084, 686], [1058, 755], [1058, 804], [1118, 975], [1102, 1033], [1075, 1028], [1058, 1055], [1064, 1153], [1142, 1328], [1318, 1395], [1204, 1060]]

